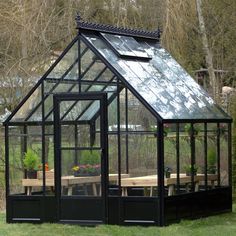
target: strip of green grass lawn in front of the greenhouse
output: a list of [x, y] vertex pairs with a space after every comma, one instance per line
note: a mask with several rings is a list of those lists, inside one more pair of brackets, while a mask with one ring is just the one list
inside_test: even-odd
[[103, 235], [171, 235], [171, 236], [231, 236], [236, 235], [236, 206], [234, 212], [219, 216], [182, 221], [168, 227], [120, 227], [101, 225], [97, 227], [81, 227], [62, 224], [6, 224], [5, 214], [0, 213], [0, 236], [103, 236]]

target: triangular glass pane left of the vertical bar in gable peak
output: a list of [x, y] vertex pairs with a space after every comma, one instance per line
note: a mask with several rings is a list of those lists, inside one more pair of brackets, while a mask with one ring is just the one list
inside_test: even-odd
[[65, 56], [53, 68], [48, 78], [78, 79], [78, 42], [76, 41]]

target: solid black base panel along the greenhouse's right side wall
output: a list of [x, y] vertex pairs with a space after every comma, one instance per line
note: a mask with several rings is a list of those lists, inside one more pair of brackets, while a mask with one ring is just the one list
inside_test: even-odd
[[232, 211], [231, 188], [181, 194], [165, 198], [165, 224]]

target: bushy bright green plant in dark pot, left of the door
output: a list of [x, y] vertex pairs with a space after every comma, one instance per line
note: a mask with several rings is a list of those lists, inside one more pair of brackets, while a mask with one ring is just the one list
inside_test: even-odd
[[28, 149], [24, 155], [23, 164], [27, 171], [27, 178], [36, 179], [37, 178], [37, 167], [38, 167], [39, 157], [32, 149]]

